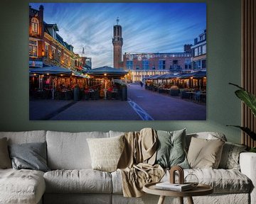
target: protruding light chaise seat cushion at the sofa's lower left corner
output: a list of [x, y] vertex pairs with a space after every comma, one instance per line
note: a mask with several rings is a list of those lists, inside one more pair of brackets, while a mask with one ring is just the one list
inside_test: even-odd
[[0, 203], [38, 203], [45, 190], [42, 171], [0, 169]]

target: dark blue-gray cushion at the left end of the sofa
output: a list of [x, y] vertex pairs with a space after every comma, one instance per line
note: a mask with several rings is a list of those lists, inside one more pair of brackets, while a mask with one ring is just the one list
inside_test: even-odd
[[10, 145], [9, 152], [14, 169], [50, 170], [46, 164], [46, 142]]

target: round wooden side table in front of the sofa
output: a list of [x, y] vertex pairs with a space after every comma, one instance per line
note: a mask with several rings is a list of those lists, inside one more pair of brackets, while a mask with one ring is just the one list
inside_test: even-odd
[[183, 204], [183, 197], [187, 197], [188, 203], [193, 204], [192, 196], [206, 196], [213, 193], [213, 188], [205, 184], [198, 184], [189, 191], [169, 191], [156, 188], [156, 183], [147, 183], [143, 186], [143, 191], [160, 196], [158, 204], [163, 204], [166, 196], [178, 197], [181, 204]]

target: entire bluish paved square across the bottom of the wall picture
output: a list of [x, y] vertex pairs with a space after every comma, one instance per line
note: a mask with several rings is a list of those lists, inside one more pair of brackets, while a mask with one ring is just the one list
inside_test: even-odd
[[206, 120], [206, 104], [128, 85], [128, 101], [34, 100], [30, 120]]

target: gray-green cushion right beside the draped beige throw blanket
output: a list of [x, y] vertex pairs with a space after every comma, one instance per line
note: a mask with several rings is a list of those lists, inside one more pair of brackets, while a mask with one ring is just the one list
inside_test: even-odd
[[183, 169], [189, 168], [185, 153], [186, 129], [174, 132], [157, 131], [159, 139], [156, 152], [156, 164], [163, 168], [171, 166], [181, 166]]

